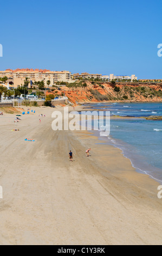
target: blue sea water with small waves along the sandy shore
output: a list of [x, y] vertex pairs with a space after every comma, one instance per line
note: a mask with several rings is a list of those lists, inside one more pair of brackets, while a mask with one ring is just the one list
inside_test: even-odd
[[[162, 115], [162, 103], [98, 103], [90, 106], [108, 110], [111, 115], [137, 117], [111, 119], [110, 135], [104, 139], [120, 148], [138, 172], [146, 173], [162, 184], [162, 121], [141, 118]], [[102, 135], [101, 131], [98, 133]]]

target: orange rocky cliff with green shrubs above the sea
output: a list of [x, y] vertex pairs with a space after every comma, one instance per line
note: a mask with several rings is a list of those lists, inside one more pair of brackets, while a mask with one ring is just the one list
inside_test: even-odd
[[162, 102], [162, 84], [76, 82], [60, 87], [70, 102], [131, 101]]

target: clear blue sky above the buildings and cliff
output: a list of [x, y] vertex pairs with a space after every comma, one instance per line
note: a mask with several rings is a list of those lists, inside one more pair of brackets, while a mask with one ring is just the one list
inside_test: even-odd
[[0, 70], [162, 78], [160, 0], [1, 1]]

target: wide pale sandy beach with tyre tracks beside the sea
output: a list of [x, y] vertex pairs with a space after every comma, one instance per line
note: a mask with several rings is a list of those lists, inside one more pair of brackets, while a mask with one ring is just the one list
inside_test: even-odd
[[53, 131], [56, 108], [33, 109], [0, 118], [0, 244], [161, 245], [158, 182], [87, 131]]

